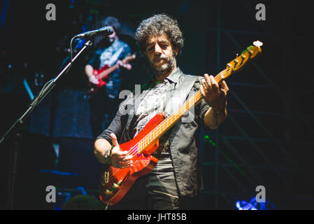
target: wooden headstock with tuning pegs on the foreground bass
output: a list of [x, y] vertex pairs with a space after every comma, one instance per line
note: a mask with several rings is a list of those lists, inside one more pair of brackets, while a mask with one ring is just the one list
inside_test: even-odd
[[228, 76], [231, 76], [231, 74], [243, 69], [250, 60], [257, 57], [257, 55], [262, 52], [262, 48], [260, 48], [262, 45], [263, 43], [261, 41], [255, 41], [253, 45], [250, 45], [246, 50], [243, 50], [241, 55], [237, 56], [227, 64], [226, 69], [224, 69], [223, 78], [227, 78]]

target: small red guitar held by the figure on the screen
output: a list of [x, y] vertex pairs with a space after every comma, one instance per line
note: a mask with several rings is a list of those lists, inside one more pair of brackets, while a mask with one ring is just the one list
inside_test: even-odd
[[[124, 64], [127, 64], [133, 61], [134, 59], [136, 59], [135, 54], [125, 57], [122, 60], [122, 62]], [[116, 63], [115, 65], [110, 66], [110, 67], [108, 66], [108, 64], [106, 64], [104, 67], [102, 67], [99, 70], [94, 69], [93, 74], [98, 79], [99, 83], [98, 84], [89, 83], [87, 94], [95, 94], [99, 90], [100, 87], [107, 85], [106, 80], [108, 79], [109, 74], [115, 71], [117, 68], [119, 68], [119, 65]]]

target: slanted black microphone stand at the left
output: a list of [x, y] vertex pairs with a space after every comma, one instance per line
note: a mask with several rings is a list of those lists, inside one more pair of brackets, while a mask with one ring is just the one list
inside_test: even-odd
[[[18, 118], [15, 123], [8, 129], [6, 134], [3, 135], [3, 137], [0, 140], [0, 144], [6, 140], [10, 139], [10, 135], [12, 134], [13, 130], [17, 127], [17, 125], [24, 124], [24, 121], [29, 117], [31, 114], [31, 111], [34, 111], [36, 106], [45, 98], [45, 96], [52, 90], [53, 87], [57, 84], [57, 80], [62, 76], [62, 74], [67, 73], [68, 69], [70, 68], [71, 64], [76, 60], [76, 58], [85, 50], [85, 48], [92, 45], [92, 41], [87, 41], [84, 44], [84, 47], [76, 54], [75, 57], [73, 57], [72, 61], [67, 64], [64, 69], [59, 73], [59, 75], [50, 80], [48, 83], [46, 83], [41, 90], [41, 92], [38, 94], [38, 96], [31, 102], [29, 105], [29, 108], [27, 111], [24, 112], [24, 114]], [[18, 153], [20, 151], [20, 141], [21, 141], [21, 134], [19, 132], [15, 133], [13, 141], [13, 145], [10, 149], [10, 174], [9, 174], [9, 193], [8, 193], [8, 209], [13, 209], [14, 199], [15, 199], [15, 183], [16, 183], [16, 177], [17, 177], [17, 158]]]

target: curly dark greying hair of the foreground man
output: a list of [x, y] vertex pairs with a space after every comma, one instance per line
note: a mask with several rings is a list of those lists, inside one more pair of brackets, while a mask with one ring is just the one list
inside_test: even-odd
[[178, 22], [164, 13], [145, 19], [136, 29], [135, 39], [142, 52], [145, 52], [145, 42], [150, 36], [166, 34], [173, 48], [178, 47], [179, 54], [183, 48], [184, 38]]

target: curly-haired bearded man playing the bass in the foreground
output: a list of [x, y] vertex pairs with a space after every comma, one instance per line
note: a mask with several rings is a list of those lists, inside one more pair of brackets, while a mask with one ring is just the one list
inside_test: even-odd
[[[136, 41], [148, 58], [154, 76], [141, 93], [141, 103], [134, 107], [135, 113], [125, 113], [122, 102], [113, 122], [94, 144], [99, 162], [120, 169], [131, 166], [131, 156], [120, 151], [119, 144], [133, 139], [156, 113], [164, 111], [166, 92], [176, 91], [175, 87], [183, 85], [187, 77], [176, 64], [183, 48], [183, 34], [176, 20], [164, 14], [143, 20], [136, 30]], [[112, 209], [188, 209], [190, 199], [202, 188], [199, 128], [216, 129], [227, 118], [227, 83], [222, 81], [219, 86], [213, 76], [205, 74], [187, 92], [199, 89], [204, 99], [195, 106], [193, 120], [178, 121], [159, 139], [159, 148], [154, 152], [159, 160], [157, 166], [150, 174], [137, 179]], [[129, 119], [130, 116], [133, 118]]]

